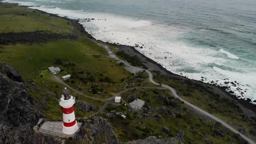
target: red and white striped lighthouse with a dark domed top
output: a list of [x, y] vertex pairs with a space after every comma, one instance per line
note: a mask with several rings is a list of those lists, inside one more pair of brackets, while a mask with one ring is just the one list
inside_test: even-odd
[[77, 121], [74, 114], [75, 97], [71, 95], [69, 89], [64, 88], [61, 93], [60, 105], [63, 113], [62, 131], [65, 134], [74, 134], [78, 130]]

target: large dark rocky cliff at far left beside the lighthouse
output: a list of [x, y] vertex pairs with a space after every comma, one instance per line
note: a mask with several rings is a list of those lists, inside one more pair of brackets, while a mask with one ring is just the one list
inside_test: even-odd
[[32, 130], [43, 115], [33, 108], [33, 98], [22, 82], [16, 69], [0, 62], [0, 143], [55, 141], [54, 137], [36, 134]]

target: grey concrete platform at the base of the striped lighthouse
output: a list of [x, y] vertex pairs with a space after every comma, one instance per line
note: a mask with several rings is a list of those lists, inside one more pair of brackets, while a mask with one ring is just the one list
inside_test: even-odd
[[33, 129], [45, 134], [56, 135], [60, 137], [73, 137], [79, 131], [82, 123], [77, 123], [77, 125], [78, 130], [71, 135], [67, 135], [62, 132], [62, 122], [44, 122], [42, 126], [35, 126]]

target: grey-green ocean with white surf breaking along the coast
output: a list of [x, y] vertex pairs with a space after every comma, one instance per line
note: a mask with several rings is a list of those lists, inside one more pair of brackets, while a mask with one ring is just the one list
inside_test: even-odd
[[254, 0], [5, 0], [78, 19], [94, 38], [135, 48], [172, 73], [256, 104]]

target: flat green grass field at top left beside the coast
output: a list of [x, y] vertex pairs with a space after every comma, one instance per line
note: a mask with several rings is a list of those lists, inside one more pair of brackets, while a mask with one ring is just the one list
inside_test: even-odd
[[40, 11], [22, 7], [8, 8], [1, 5], [0, 19], [0, 32], [47, 30], [56, 33], [67, 33], [65, 31], [59, 31], [59, 29], [74, 31], [74, 28], [72, 28], [65, 19], [49, 16]]

